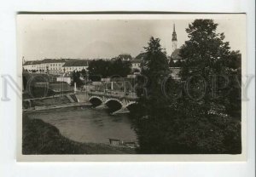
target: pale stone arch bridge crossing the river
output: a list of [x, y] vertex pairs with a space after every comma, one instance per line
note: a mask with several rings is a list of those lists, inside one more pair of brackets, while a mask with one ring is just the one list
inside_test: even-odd
[[136, 93], [103, 93], [89, 92], [89, 101], [97, 109], [108, 108], [113, 114], [129, 112], [137, 100]]

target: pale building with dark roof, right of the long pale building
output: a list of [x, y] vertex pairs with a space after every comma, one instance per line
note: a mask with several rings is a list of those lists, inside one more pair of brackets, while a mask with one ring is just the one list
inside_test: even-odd
[[72, 60], [66, 61], [65, 64], [62, 66], [64, 72], [70, 71], [88, 71], [89, 67], [89, 60]]

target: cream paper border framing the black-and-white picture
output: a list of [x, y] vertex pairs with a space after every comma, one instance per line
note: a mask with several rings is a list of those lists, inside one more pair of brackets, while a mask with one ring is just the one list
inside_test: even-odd
[[[19, 27], [22, 26], [24, 20], [194, 20], [194, 19], [213, 19], [213, 20], [237, 20], [241, 25], [241, 33], [243, 33], [243, 39], [241, 41], [241, 74], [245, 76], [247, 74], [247, 53], [246, 53], [246, 14], [18, 14], [17, 16], [17, 38], [18, 38], [18, 71], [21, 73], [21, 60], [22, 51], [20, 37], [22, 34], [19, 31]], [[244, 77], [243, 77], [244, 79]], [[242, 83], [245, 83], [242, 80]], [[18, 112], [21, 112], [21, 100], [19, 101]], [[241, 142], [242, 153], [239, 155], [227, 155], [227, 154], [213, 154], [213, 155], [22, 155], [21, 154], [21, 134], [22, 134], [22, 117], [17, 118], [18, 123], [18, 146], [17, 146], [17, 160], [18, 161], [90, 161], [90, 162], [195, 162], [195, 161], [245, 161], [247, 154], [247, 101], [241, 102]]]

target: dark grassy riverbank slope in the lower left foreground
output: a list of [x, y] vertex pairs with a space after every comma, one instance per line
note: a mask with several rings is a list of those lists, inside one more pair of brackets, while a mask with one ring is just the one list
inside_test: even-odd
[[23, 116], [22, 153], [29, 154], [127, 154], [130, 148], [79, 143], [62, 136], [57, 128], [40, 119]]

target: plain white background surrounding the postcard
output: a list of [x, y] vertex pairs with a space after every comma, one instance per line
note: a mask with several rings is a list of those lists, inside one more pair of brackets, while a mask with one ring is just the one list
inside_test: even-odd
[[[255, 74], [255, 1], [254, 0], [181, 0], [160, 2], [122, 1], [3, 1], [0, 6], [1, 74], [16, 76], [15, 14], [18, 11], [176, 11], [247, 13], [247, 72]], [[16, 163], [16, 94], [0, 102], [0, 173], [3, 176], [255, 176], [255, 80], [248, 88], [247, 162], [246, 163]], [[0, 87], [2, 89], [2, 87]], [[2, 93], [2, 90], [0, 90]]]

